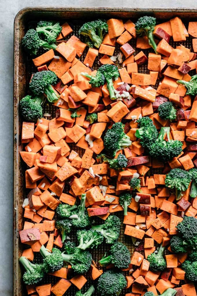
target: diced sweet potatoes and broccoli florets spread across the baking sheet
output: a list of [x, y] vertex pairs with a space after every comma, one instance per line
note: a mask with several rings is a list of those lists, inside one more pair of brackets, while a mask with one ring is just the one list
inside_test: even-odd
[[[195, 296], [197, 22], [187, 30], [179, 17], [156, 25], [144, 16], [72, 32], [67, 22], [39, 21], [22, 39], [38, 67], [19, 103], [27, 294], [62, 296], [75, 285], [76, 296]], [[182, 44], [189, 36], [193, 52]], [[55, 118], [43, 114], [46, 104]], [[104, 244], [108, 252], [93, 258]], [[56, 283], [43, 284], [46, 274]]]

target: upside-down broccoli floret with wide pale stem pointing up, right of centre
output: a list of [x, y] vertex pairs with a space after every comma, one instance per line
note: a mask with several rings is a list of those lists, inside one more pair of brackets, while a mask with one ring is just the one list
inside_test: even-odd
[[[168, 141], [164, 140], [165, 134], [167, 134]], [[149, 154], [160, 161], [166, 162], [172, 160], [173, 157], [177, 157], [182, 152], [182, 146], [181, 141], [170, 140], [170, 127], [162, 127], [156, 142], [149, 147]]]

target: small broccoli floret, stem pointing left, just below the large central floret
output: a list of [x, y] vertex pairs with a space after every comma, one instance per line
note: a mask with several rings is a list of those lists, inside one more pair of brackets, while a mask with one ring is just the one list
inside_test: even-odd
[[97, 159], [103, 160], [103, 162], [109, 163], [110, 168], [114, 170], [123, 170], [127, 166], [127, 158], [123, 154], [119, 154], [117, 158], [109, 158], [105, 154], [98, 154]]

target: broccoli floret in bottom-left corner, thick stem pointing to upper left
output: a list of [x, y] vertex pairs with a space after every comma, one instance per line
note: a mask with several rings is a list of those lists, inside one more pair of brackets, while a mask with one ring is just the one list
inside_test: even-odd
[[26, 285], [36, 285], [44, 277], [44, 264], [33, 264], [26, 257], [22, 256], [19, 262], [23, 265], [26, 272], [23, 275], [23, 281]]

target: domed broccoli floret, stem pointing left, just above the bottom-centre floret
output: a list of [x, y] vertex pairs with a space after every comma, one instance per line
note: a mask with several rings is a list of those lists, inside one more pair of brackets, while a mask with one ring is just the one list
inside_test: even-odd
[[110, 248], [110, 255], [104, 256], [100, 261], [100, 266], [107, 266], [113, 263], [117, 268], [128, 268], [131, 263], [131, 253], [121, 242], [116, 242]]

